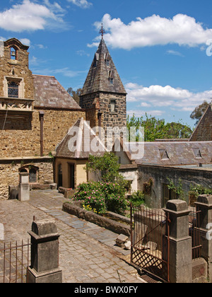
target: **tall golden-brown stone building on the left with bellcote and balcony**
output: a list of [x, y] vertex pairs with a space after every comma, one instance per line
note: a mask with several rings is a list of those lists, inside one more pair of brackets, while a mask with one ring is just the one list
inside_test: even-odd
[[0, 199], [20, 171], [32, 185], [53, 182], [51, 152], [86, 116], [54, 76], [32, 74], [28, 48], [15, 38], [0, 43]]

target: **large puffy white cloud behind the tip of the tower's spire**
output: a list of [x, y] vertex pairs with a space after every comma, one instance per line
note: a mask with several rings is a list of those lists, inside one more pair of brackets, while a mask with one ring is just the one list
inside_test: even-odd
[[[101, 23], [108, 32], [104, 36], [107, 44], [124, 50], [168, 44], [196, 47], [206, 44], [206, 41], [212, 38], [212, 29], [205, 29], [195, 18], [184, 14], [177, 14], [173, 18], [161, 18], [156, 15], [136, 18], [136, 21], [129, 24], [124, 24], [120, 18], [111, 18], [110, 14], [105, 14], [101, 22], [95, 23], [95, 27], [99, 29]], [[88, 46], [97, 46], [99, 39], [100, 37], [96, 37], [96, 42]]]

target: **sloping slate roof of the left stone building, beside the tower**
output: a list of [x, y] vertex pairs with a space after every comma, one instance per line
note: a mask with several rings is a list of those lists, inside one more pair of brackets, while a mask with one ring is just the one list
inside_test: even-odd
[[35, 107], [81, 109], [54, 76], [33, 74]]

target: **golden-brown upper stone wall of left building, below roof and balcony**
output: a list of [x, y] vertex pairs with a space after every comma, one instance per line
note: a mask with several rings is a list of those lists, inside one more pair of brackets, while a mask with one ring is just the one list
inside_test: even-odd
[[[0, 158], [40, 156], [40, 110], [34, 110], [32, 117], [8, 117], [5, 129], [0, 133]], [[45, 110], [44, 115], [44, 155], [63, 139], [69, 128], [85, 117], [85, 112], [71, 110]], [[5, 117], [0, 117], [0, 129]]]

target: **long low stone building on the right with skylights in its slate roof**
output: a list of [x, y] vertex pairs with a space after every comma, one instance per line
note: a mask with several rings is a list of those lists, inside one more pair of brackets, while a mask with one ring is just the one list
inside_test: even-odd
[[[161, 139], [154, 142], [124, 143], [117, 139], [114, 152], [122, 164], [120, 173], [131, 180], [132, 190], [145, 193], [154, 208], [164, 207], [177, 193], [170, 182], [184, 192], [188, 204], [191, 187], [201, 185], [212, 190], [212, 112], [211, 105], [190, 139]], [[118, 143], [118, 144], [117, 144]], [[114, 146], [114, 147], [115, 147]], [[136, 151], [137, 156], [136, 156]]]

